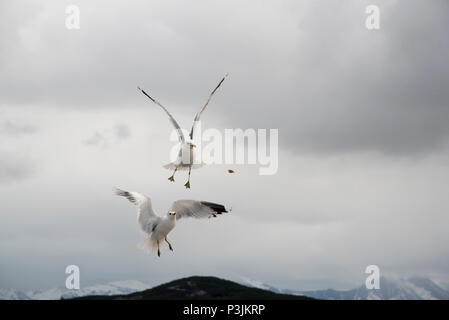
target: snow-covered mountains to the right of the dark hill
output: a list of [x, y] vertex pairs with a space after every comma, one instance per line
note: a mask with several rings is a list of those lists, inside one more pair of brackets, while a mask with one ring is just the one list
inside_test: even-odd
[[245, 279], [247, 285], [268, 289], [276, 293], [305, 295], [324, 300], [449, 300], [449, 291], [424, 277], [408, 279], [380, 279], [380, 289], [369, 290], [362, 285], [352, 290], [295, 291], [273, 288], [254, 280]]

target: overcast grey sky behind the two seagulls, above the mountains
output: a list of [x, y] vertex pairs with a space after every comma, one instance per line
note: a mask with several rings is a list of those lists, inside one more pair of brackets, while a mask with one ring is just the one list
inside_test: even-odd
[[[2, 1], [0, 288], [62, 286], [69, 264], [81, 285], [349, 288], [371, 264], [447, 280], [448, 16], [445, 0]], [[203, 129], [279, 129], [279, 171], [211, 165], [186, 190], [162, 168], [170, 123], [136, 86], [188, 130], [226, 72]], [[160, 214], [180, 198], [233, 212], [180, 221], [157, 258], [115, 185]]]

